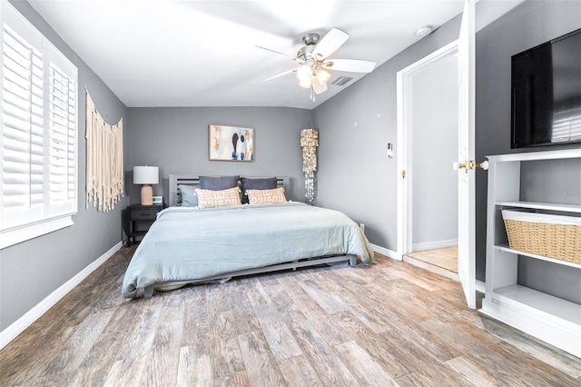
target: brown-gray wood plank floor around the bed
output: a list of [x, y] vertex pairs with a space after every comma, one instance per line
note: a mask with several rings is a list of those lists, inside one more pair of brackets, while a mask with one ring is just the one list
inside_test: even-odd
[[124, 300], [123, 248], [0, 352], [0, 385], [579, 386], [581, 360], [376, 254]]

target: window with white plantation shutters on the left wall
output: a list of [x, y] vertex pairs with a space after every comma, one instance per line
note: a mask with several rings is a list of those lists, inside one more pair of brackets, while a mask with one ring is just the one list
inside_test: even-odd
[[1, 6], [0, 249], [71, 225], [77, 211], [77, 69]]

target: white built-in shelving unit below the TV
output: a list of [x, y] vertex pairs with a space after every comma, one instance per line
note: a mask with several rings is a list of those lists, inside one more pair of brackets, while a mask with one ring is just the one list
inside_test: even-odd
[[569, 266], [577, 271], [579, 281], [581, 264], [510, 249], [501, 214], [504, 208], [581, 213], [581, 205], [520, 200], [521, 162], [581, 159], [581, 149], [487, 158], [487, 278], [480, 312], [581, 357], [581, 305], [517, 283], [519, 255]]

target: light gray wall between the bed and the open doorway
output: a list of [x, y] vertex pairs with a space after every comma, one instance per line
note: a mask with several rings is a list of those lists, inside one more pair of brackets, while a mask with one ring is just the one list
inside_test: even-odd
[[[458, 38], [456, 17], [314, 110], [320, 129], [318, 205], [365, 223], [369, 242], [397, 250], [399, 70]], [[331, 86], [336, 87], [336, 86]]]

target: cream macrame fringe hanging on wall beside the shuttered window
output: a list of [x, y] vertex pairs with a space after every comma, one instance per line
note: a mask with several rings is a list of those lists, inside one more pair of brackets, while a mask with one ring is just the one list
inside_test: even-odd
[[117, 124], [107, 124], [88, 92], [86, 102], [86, 207], [92, 203], [106, 212], [123, 197], [123, 118]]

